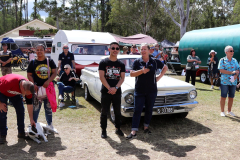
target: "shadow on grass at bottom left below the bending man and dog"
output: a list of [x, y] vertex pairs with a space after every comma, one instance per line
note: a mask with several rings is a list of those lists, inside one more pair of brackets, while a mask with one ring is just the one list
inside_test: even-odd
[[[18, 143], [7, 146], [0, 146], [0, 159], [36, 159], [37, 154], [43, 152], [45, 157], [55, 157], [57, 151], [66, 150], [67, 147], [62, 146], [61, 138], [50, 135], [48, 142], [45, 143], [41, 139], [41, 144], [37, 144], [33, 140], [18, 139]], [[29, 148], [30, 146], [30, 148]], [[29, 148], [29, 149], [27, 149]]]

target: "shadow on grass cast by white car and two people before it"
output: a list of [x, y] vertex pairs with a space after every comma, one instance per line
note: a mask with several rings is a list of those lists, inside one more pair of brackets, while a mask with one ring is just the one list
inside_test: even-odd
[[[143, 124], [143, 117], [141, 118], [141, 124]], [[125, 135], [130, 134], [131, 123], [122, 125], [122, 131]], [[177, 119], [172, 115], [166, 116], [153, 116], [151, 121], [150, 130], [151, 135], [143, 133], [143, 125], [140, 125], [137, 133], [137, 140], [143, 141], [152, 145], [151, 149], [157, 152], [165, 152], [175, 157], [186, 157], [187, 152], [190, 152], [196, 148], [195, 145], [179, 145], [172, 140], [185, 139], [201, 134], [211, 133], [212, 130], [203, 126], [200, 123], [192, 121], [190, 119]], [[148, 151], [138, 149], [129, 140], [122, 140], [121, 143], [113, 141], [110, 137], [106, 141], [110, 146], [116, 150], [116, 153], [121, 156], [135, 155], [138, 159], [150, 159], [144, 155]]]

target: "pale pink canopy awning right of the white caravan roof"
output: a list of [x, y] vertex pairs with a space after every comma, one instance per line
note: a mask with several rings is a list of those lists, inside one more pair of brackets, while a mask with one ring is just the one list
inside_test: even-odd
[[116, 39], [116, 41], [120, 45], [131, 46], [132, 44], [157, 43], [157, 41], [155, 39], [153, 39], [151, 36], [148, 36], [145, 34], [136, 34], [136, 35], [128, 36], [128, 37], [120, 37], [117, 35], [113, 35], [113, 37]]

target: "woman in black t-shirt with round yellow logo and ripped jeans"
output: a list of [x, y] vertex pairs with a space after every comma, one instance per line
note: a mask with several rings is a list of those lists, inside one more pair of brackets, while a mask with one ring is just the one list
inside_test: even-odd
[[[28, 69], [27, 77], [33, 82], [35, 91], [38, 92], [39, 87], [47, 88], [49, 83], [54, 80], [57, 75], [56, 64], [52, 59], [45, 57], [45, 46], [42, 44], [37, 45], [36, 47], [37, 58], [31, 60]], [[50, 75], [50, 76], [49, 76]], [[54, 129], [52, 125], [52, 108], [48, 98], [42, 100], [34, 100], [33, 104], [33, 119], [37, 123], [38, 115], [44, 103], [45, 117], [48, 123], [48, 126]]]

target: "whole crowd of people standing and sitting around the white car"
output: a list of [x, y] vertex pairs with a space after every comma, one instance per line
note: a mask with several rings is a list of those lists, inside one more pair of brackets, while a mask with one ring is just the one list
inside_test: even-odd
[[[12, 103], [17, 114], [18, 138], [25, 137], [25, 109], [23, 97], [27, 104], [30, 124], [35, 126], [39, 117], [39, 112], [44, 104], [45, 118], [47, 125], [54, 129], [52, 122], [52, 112], [56, 112], [54, 102], [48, 97], [55, 97], [54, 93], [48, 89], [53, 87], [53, 81], [58, 81], [59, 96], [61, 101], [59, 107], [64, 104], [64, 92], [71, 93], [74, 97], [75, 82], [79, 80], [76, 75], [75, 61], [73, 53], [69, 52], [67, 44], [63, 45], [63, 52], [59, 55], [58, 67], [51, 58], [45, 56], [45, 46], [39, 44], [36, 46], [37, 57], [30, 61], [27, 69], [27, 78], [12, 74], [9, 63], [11, 61], [11, 52], [7, 50], [7, 44], [2, 44], [3, 51], [0, 52], [0, 63], [2, 77], [0, 77], [0, 144], [6, 143], [7, 136], [7, 111], [8, 100]], [[235, 116], [231, 111], [233, 99], [235, 96], [237, 85], [237, 77], [239, 76], [239, 64], [233, 58], [234, 50], [232, 46], [225, 47], [226, 57], [218, 61], [217, 52], [211, 50], [207, 64], [209, 65], [209, 77], [211, 79], [211, 88], [213, 89], [213, 79], [218, 80], [219, 73], [221, 75], [221, 116], [225, 116], [224, 106], [228, 96], [227, 114]], [[117, 55], [120, 52], [120, 46], [116, 42], [112, 42], [109, 47], [109, 57], [102, 59], [99, 63], [99, 77], [102, 82], [101, 88], [101, 117], [100, 126], [102, 129], [101, 137], [107, 138], [107, 113], [110, 105], [113, 105], [115, 113], [115, 133], [124, 136], [121, 131], [121, 85], [125, 80], [125, 64], [118, 60]], [[157, 82], [167, 71], [168, 67], [164, 65], [164, 55], [158, 44], [142, 44], [140, 53], [137, 51], [135, 44], [131, 47], [123, 47], [123, 54], [141, 55], [133, 62], [130, 76], [135, 77], [134, 90], [134, 114], [132, 118], [132, 128], [130, 134], [126, 137], [132, 139], [136, 137], [141, 113], [145, 106], [144, 117], [144, 133], [151, 134], [149, 124], [152, 118], [153, 105], [157, 96]], [[186, 82], [191, 77], [192, 84], [195, 85], [196, 71], [201, 64], [200, 58], [196, 51], [192, 49], [187, 57], [186, 65]], [[157, 70], [161, 69], [159, 75]], [[113, 73], [109, 76], [107, 72]], [[57, 77], [58, 75], [58, 77]], [[157, 75], [157, 76], [156, 76]], [[148, 82], [148, 83], [146, 83]], [[53, 89], [54, 90], [54, 89]], [[49, 95], [48, 95], [49, 94]]]

